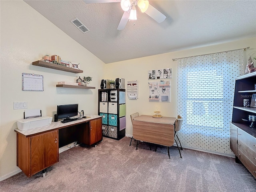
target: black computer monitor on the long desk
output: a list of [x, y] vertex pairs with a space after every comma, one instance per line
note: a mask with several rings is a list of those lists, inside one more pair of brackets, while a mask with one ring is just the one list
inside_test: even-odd
[[78, 115], [78, 104], [57, 105], [57, 120]]

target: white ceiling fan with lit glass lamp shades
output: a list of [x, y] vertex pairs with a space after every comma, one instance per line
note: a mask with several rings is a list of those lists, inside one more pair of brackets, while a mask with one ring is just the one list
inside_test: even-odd
[[166, 16], [149, 4], [148, 0], [84, 0], [85, 3], [116, 3], [119, 2], [124, 14], [117, 27], [118, 30], [123, 30], [128, 20], [137, 20], [136, 6], [140, 10], [158, 23], [165, 20]]

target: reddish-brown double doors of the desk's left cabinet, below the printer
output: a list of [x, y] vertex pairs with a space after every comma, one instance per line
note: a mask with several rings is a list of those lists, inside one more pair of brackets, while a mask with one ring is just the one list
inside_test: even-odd
[[58, 130], [31, 138], [31, 176], [58, 160]]

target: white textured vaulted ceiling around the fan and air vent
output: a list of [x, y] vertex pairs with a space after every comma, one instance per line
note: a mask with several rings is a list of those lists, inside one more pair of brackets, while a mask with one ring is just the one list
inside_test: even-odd
[[[255, 0], [149, 0], [167, 18], [158, 23], [137, 10], [138, 20], [117, 30], [120, 3], [25, 0], [104, 63], [202, 47], [256, 36]], [[70, 20], [78, 18], [83, 34]]]

